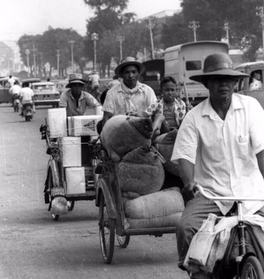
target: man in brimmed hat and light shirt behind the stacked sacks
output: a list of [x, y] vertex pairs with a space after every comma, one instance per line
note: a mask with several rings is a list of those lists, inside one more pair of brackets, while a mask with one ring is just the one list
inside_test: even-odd
[[115, 69], [115, 73], [123, 80], [120, 85], [111, 88], [103, 103], [103, 125], [112, 116], [124, 113], [141, 114], [157, 100], [152, 88], [138, 81], [139, 75], [145, 71], [143, 64], [133, 57], [125, 57]]

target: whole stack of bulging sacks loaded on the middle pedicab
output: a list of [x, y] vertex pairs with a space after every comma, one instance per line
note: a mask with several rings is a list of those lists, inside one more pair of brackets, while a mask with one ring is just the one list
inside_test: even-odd
[[102, 145], [115, 162], [131, 228], [176, 226], [184, 209], [177, 190], [160, 191], [166, 160], [151, 145], [152, 135], [150, 118], [127, 115], [111, 117], [101, 133]]

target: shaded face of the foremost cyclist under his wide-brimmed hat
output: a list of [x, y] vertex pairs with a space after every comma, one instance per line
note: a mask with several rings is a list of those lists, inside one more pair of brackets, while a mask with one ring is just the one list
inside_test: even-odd
[[237, 77], [232, 75], [211, 75], [206, 87], [209, 89], [210, 99], [214, 102], [229, 102], [237, 83]]

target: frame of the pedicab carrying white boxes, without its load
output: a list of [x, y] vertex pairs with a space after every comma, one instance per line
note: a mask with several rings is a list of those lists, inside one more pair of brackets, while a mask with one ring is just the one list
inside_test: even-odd
[[[55, 196], [64, 196], [66, 201], [68, 202], [68, 211], [73, 210], [74, 202], [75, 201], [93, 201], [95, 200], [95, 188], [96, 188], [96, 179], [95, 180], [88, 180], [88, 185], [86, 185], [87, 191], [86, 193], [80, 194], [68, 194], [67, 193], [67, 185], [64, 176], [64, 168], [61, 163], [61, 149], [59, 148], [59, 144], [57, 138], [51, 139], [50, 138], [50, 131], [49, 126], [47, 124], [47, 119], [45, 119], [45, 139], [47, 145], [47, 153], [50, 154], [50, 159], [47, 166], [47, 180], [45, 183], [45, 203], [49, 204], [48, 211], [51, 211], [51, 202]], [[99, 137], [91, 142], [88, 145], [94, 148], [95, 152], [92, 155], [92, 166], [88, 166], [90, 170], [93, 171], [96, 165], [99, 163], [99, 159], [96, 156], [96, 150], [99, 148], [99, 143], [97, 141]], [[49, 150], [49, 151], [48, 151]], [[93, 176], [95, 177], [95, 176]], [[52, 219], [57, 221], [60, 215], [52, 214]]]

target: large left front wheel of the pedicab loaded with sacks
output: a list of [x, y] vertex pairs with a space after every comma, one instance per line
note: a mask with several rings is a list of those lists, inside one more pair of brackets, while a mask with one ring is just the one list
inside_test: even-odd
[[109, 264], [115, 248], [115, 220], [108, 216], [103, 193], [99, 204], [99, 235], [103, 260]]

